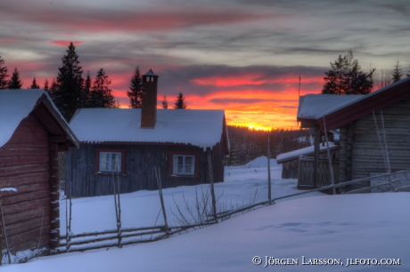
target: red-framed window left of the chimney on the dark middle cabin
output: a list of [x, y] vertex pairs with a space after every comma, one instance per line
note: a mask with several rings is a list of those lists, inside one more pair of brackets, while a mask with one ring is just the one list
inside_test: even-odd
[[126, 149], [95, 149], [95, 173], [111, 174], [119, 172], [125, 174]]

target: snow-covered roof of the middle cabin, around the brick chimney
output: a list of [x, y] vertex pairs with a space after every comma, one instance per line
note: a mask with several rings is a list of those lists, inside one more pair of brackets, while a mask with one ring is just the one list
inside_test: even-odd
[[157, 109], [155, 128], [141, 128], [140, 108], [81, 108], [70, 121], [78, 140], [191, 144], [212, 148], [220, 140], [224, 110]]

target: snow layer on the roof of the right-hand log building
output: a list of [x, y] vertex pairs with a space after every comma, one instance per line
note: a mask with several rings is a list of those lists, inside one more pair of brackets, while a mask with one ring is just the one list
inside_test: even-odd
[[299, 97], [298, 118], [318, 119], [365, 98], [363, 94], [307, 94]]

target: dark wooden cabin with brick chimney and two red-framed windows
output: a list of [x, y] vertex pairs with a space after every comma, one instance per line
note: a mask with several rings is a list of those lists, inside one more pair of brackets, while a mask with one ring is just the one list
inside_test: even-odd
[[[80, 148], [66, 159], [66, 192], [71, 196], [113, 194], [119, 172], [120, 192], [224, 181], [229, 154], [223, 110], [157, 109], [159, 76], [143, 75], [143, 108], [82, 108], [70, 121]], [[117, 179], [117, 178], [116, 178]]]

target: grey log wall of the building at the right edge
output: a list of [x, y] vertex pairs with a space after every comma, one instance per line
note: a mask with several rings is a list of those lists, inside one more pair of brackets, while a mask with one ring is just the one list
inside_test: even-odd
[[[391, 171], [410, 169], [410, 99], [383, 108], [382, 112]], [[375, 114], [381, 132], [380, 111]], [[356, 180], [369, 177], [371, 172], [385, 172], [372, 114], [342, 127], [340, 132], [340, 180]]]

